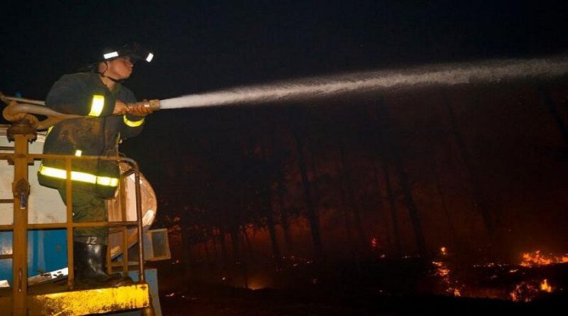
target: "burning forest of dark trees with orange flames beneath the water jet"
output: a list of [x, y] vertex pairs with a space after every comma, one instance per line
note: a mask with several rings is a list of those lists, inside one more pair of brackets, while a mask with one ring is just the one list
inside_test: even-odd
[[373, 300], [565, 295], [566, 83], [201, 109], [171, 126], [183, 148], [153, 130], [141, 166], [170, 233], [163, 265], [187, 284]]

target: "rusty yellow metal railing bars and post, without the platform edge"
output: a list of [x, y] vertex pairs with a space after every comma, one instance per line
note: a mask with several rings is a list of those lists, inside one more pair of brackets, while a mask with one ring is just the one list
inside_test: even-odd
[[[17, 129], [16, 129], [17, 130]], [[33, 129], [32, 129], [33, 130]], [[28, 130], [29, 131], [29, 130]], [[28, 142], [35, 140], [35, 130], [33, 134], [19, 133], [16, 131], [12, 135], [15, 146], [13, 153], [0, 153], [0, 160], [8, 160], [14, 165], [14, 181], [13, 181], [13, 199], [2, 199], [0, 202], [13, 203], [13, 224], [0, 225], [0, 231], [13, 231], [12, 254], [4, 254], [0, 259], [11, 258], [13, 270], [13, 311], [12, 315], [26, 315], [26, 298], [28, 293], [28, 271], [27, 271], [27, 254], [28, 230], [35, 229], [66, 229], [67, 231], [67, 263], [68, 263], [68, 279], [67, 288], [72, 290], [75, 286], [75, 273], [73, 262], [73, 230], [77, 227], [119, 227], [122, 234], [122, 273], [126, 275], [129, 271], [129, 254], [128, 254], [128, 228], [136, 227], [138, 233], [138, 282], [145, 283], [144, 276], [144, 253], [143, 253], [143, 224], [141, 209], [141, 173], [138, 170], [136, 161], [130, 158], [120, 156], [70, 156], [70, 155], [54, 155], [54, 154], [36, 154], [28, 153]], [[10, 136], [9, 136], [10, 138]], [[28, 197], [30, 195], [30, 186], [28, 182], [28, 168], [35, 160], [54, 159], [65, 160], [65, 170], [67, 177], [65, 180], [66, 189], [66, 221], [60, 223], [30, 224], [28, 223]], [[121, 202], [121, 221], [120, 222], [74, 222], [72, 211], [72, 180], [71, 165], [72, 160], [110, 160], [115, 163], [127, 163], [130, 169], [126, 173], [121, 174], [119, 181], [120, 198], [124, 200], [124, 180], [130, 175], [135, 177], [136, 190], [136, 221], [125, 221], [126, 205]], [[32, 192], [33, 194], [33, 192]], [[107, 251], [107, 272], [112, 272], [112, 263], [110, 259], [110, 247]]]

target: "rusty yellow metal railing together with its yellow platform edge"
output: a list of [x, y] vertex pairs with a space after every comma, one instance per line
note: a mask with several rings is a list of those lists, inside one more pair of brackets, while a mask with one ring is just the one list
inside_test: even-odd
[[[32, 116], [33, 117], [33, 116]], [[13, 231], [13, 254], [3, 255], [1, 258], [12, 259], [13, 285], [11, 295], [0, 296], [0, 311], [11, 310], [13, 316], [25, 315], [87, 315], [119, 310], [143, 309], [143, 315], [153, 315], [151, 296], [148, 284], [144, 276], [143, 266], [143, 243], [142, 243], [142, 210], [140, 173], [134, 160], [119, 156], [63, 156], [28, 153], [28, 143], [36, 138], [33, 128], [33, 119], [22, 119], [13, 123], [8, 130], [10, 141], [14, 141], [14, 153], [0, 153], [0, 160], [8, 160], [14, 166], [13, 178], [13, 224], [0, 225], [0, 231]], [[28, 182], [28, 165], [33, 165], [34, 160], [41, 159], [65, 160], [67, 170], [67, 221], [65, 223], [28, 224], [28, 196], [30, 193]], [[112, 160], [123, 161], [131, 165], [129, 174], [135, 174], [136, 182], [136, 214], [134, 222], [89, 222], [74, 223], [72, 216], [72, 182], [70, 177], [72, 160]], [[124, 177], [121, 176], [121, 180]], [[121, 185], [121, 187], [124, 187]], [[123, 190], [123, 189], [121, 189]], [[124, 194], [124, 192], [122, 192]], [[4, 201], [6, 202], [6, 201]], [[123, 219], [126, 218], [126, 210], [122, 207]], [[73, 290], [73, 246], [72, 234], [75, 227], [121, 227], [123, 238], [126, 242], [126, 227], [136, 226], [138, 230], [138, 283], [130, 286], [116, 288], [97, 288], [89, 290]], [[67, 229], [67, 263], [69, 275], [67, 288], [57, 293], [28, 293], [28, 230], [29, 229]], [[123, 249], [126, 249], [124, 247]], [[123, 252], [122, 272], [128, 273], [128, 251]], [[109, 254], [107, 261], [110, 263]], [[107, 265], [109, 272], [111, 264]], [[6, 306], [7, 305], [7, 306]]]

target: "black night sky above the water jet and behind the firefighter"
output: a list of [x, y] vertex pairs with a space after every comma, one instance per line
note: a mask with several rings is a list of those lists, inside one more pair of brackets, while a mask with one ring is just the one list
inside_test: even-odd
[[[22, 1], [4, 4], [0, 26], [0, 91], [45, 99], [58, 77], [90, 62], [89, 56], [93, 52], [104, 46], [131, 41], [138, 41], [155, 52], [155, 61], [150, 65], [137, 65], [133, 77], [126, 82], [138, 99], [167, 99], [274, 80], [432, 62], [540, 57], [565, 53], [568, 49], [566, 1], [236, 2], [240, 1], [175, 1], [175, 4], [170, 1]], [[342, 102], [349, 104], [347, 99], [336, 102], [335, 115], [347, 117], [350, 110], [345, 106], [342, 113]], [[393, 104], [394, 107], [408, 107], [406, 123], [401, 123], [408, 129], [414, 125], [426, 126], [427, 121], [419, 121], [425, 117], [417, 114], [420, 111], [426, 114], [442, 111], [411, 110], [412, 104], [405, 102]], [[461, 117], [472, 115], [464, 129], [482, 129], [488, 117], [501, 117], [499, 115], [503, 113], [495, 114], [502, 110], [498, 106], [495, 104], [491, 108], [486, 104], [483, 113], [488, 116], [481, 112], [458, 113], [463, 115]], [[399, 115], [407, 111], [398, 110]], [[270, 115], [270, 111], [270, 107], [258, 111], [240, 107], [222, 111], [158, 111], [148, 120], [143, 132], [145, 137], [129, 141], [129, 146], [134, 148], [134, 153], [143, 155], [140, 148], [152, 147], [147, 145], [148, 139], [157, 141], [158, 137], [175, 137], [175, 145], [169, 147], [158, 138], [163, 143], [160, 143], [161, 147], [156, 144], [156, 148], [191, 152], [196, 149], [189, 148], [189, 141], [184, 141], [189, 139], [184, 136], [187, 131], [194, 134], [192, 141], [200, 136], [205, 140], [214, 139], [214, 136], [206, 135], [210, 129], [200, 129], [207, 124], [218, 126], [220, 130], [230, 129], [238, 122], [254, 124], [254, 118], [249, 116]], [[413, 122], [413, 118], [417, 120]], [[184, 126], [185, 122], [195, 125]], [[493, 123], [492, 126], [503, 127], [498, 119]], [[518, 127], [514, 123], [508, 124], [512, 128]], [[424, 126], [422, 131], [427, 131], [427, 137], [435, 138], [435, 129]], [[254, 129], [248, 132], [255, 133]], [[496, 128], [495, 132], [503, 131]], [[153, 137], [153, 134], [159, 136]], [[493, 138], [491, 135], [486, 137]], [[317, 143], [317, 140], [312, 141]], [[479, 144], [479, 139], [466, 141], [474, 144], [472, 146], [476, 141]], [[481, 145], [479, 148], [487, 150]], [[494, 147], [497, 151], [500, 148], [498, 144]], [[420, 153], [420, 148], [409, 146], [407, 151]], [[506, 158], [499, 163], [503, 161]], [[143, 160], [142, 166], [151, 168], [151, 163], [151, 160]], [[530, 163], [521, 163], [515, 168], [520, 170], [526, 165]], [[491, 168], [498, 170], [501, 165], [494, 164]], [[484, 169], [488, 179], [498, 175], [492, 173], [491, 168]], [[501, 187], [506, 187], [514, 177], [505, 177], [507, 180], [503, 183], [506, 184]], [[460, 184], [452, 182], [452, 185]]]

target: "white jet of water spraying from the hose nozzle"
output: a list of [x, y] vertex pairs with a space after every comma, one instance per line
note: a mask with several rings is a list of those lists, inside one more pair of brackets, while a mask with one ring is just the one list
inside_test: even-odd
[[378, 92], [385, 89], [491, 83], [523, 77], [557, 77], [567, 72], [568, 58], [564, 55], [527, 60], [486, 60], [425, 65], [403, 70], [354, 72], [190, 94], [160, 100], [160, 109], [302, 101], [332, 97], [348, 92]]

